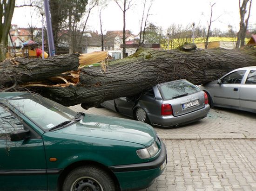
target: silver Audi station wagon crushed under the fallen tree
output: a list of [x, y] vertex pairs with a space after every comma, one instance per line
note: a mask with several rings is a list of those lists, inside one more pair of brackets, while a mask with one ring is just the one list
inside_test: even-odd
[[210, 109], [206, 93], [186, 80], [161, 83], [139, 95], [106, 101], [101, 106], [163, 127], [198, 121]]

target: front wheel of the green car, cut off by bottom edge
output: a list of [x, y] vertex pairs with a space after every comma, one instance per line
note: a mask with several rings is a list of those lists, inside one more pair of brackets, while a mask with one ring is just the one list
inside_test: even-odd
[[81, 166], [69, 172], [62, 191], [115, 191], [115, 184], [107, 172], [96, 166]]

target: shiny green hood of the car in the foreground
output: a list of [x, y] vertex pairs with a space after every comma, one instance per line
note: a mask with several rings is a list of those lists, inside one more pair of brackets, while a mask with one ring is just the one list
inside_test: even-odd
[[152, 145], [156, 137], [153, 127], [146, 123], [116, 117], [87, 114], [81, 121], [55, 132], [127, 141], [144, 146]]

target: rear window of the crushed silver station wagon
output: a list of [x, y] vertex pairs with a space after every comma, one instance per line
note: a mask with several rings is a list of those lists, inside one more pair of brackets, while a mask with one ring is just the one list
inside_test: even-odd
[[193, 83], [186, 80], [178, 80], [174, 82], [159, 84], [158, 89], [163, 100], [172, 100], [182, 96], [187, 96], [201, 91]]

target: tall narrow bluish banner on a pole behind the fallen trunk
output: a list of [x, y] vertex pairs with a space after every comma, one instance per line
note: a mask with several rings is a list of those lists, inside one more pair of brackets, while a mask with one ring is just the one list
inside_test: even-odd
[[46, 25], [47, 25], [49, 55], [50, 57], [52, 57], [52, 56], [55, 56], [55, 48], [54, 48], [54, 37], [53, 37], [52, 20], [50, 15], [50, 8], [49, 8], [49, 0], [44, 0], [44, 10], [45, 10], [45, 17], [46, 17]]

